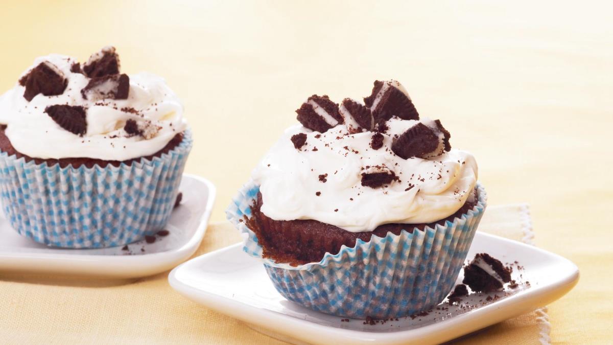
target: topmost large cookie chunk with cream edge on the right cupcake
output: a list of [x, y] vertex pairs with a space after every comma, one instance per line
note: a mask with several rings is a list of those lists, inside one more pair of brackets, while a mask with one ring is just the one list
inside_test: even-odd
[[396, 80], [376, 80], [373, 91], [370, 96], [364, 98], [364, 103], [370, 107], [376, 123], [384, 123], [392, 116], [403, 120], [419, 120], [419, 114], [409, 94]]

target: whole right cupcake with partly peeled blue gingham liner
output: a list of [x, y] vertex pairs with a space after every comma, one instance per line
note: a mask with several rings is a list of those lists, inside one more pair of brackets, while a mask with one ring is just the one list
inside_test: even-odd
[[342, 317], [425, 311], [457, 279], [485, 209], [473, 155], [400, 83], [313, 95], [227, 209], [287, 300]]

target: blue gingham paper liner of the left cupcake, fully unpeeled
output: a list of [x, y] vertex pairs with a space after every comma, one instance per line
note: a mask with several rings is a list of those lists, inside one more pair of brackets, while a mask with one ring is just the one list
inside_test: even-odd
[[0, 152], [4, 214], [23, 236], [49, 246], [123, 246], [161, 230], [170, 217], [191, 131], [175, 149], [104, 168], [36, 164]]

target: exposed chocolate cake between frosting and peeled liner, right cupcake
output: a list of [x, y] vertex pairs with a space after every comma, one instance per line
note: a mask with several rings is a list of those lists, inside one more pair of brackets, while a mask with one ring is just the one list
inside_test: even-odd
[[414, 229], [423, 231], [425, 227], [435, 227], [436, 224], [453, 222], [461, 217], [476, 204], [476, 190], [474, 198], [469, 198], [454, 214], [438, 222], [421, 224], [390, 223], [380, 225], [373, 231], [353, 233], [345, 231], [327, 223], [317, 220], [274, 220], [262, 213], [262, 193], [257, 194], [257, 200], [251, 207], [251, 217], [245, 217], [247, 227], [256, 233], [259, 244], [264, 249], [264, 257], [272, 258], [276, 262], [287, 262], [292, 265], [302, 265], [310, 262], [319, 262], [326, 253], [337, 254], [341, 246], [353, 247], [357, 239], [370, 241], [371, 236], [385, 237], [387, 233], [399, 235], [406, 230], [413, 233]]

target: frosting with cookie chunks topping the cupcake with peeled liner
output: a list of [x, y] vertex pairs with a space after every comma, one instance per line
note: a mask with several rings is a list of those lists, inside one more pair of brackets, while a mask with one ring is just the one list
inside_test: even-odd
[[451, 149], [439, 120], [419, 118], [400, 83], [376, 81], [364, 104], [313, 95], [253, 171], [261, 211], [347, 231], [432, 223], [473, 197], [477, 164]]

